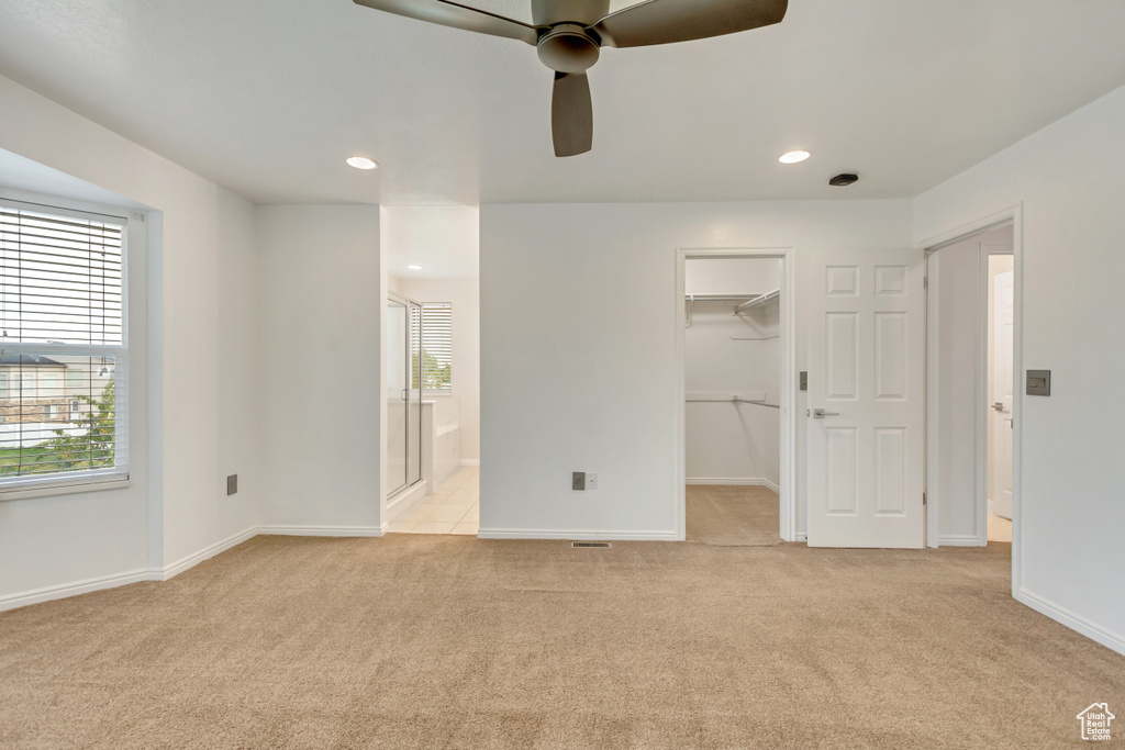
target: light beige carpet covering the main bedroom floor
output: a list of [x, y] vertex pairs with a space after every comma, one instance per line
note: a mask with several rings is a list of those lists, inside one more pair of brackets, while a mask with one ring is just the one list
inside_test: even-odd
[[1000, 544], [260, 536], [0, 614], [0, 747], [1079, 747], [1125, 658], [1008, 570]]

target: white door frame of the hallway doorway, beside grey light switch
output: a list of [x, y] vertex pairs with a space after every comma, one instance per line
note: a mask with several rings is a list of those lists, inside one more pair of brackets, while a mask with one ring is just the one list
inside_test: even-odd
[[[1004, 226], [1006, 224], [1011, 224], [1012, 295], [1014, 295], [1014, 299], [1012, 299], [1012, 358], [1011, 358], [1011, 370], [1012, 370], [1012, 379], [1014, 379], [1014, 382], [1012, 382], [1012, 404], [1011, 404], [1011, 416], [1012, 416], [1012, 419], [1014, 419], [1012, 436], [1011, 436], [1012, 437], [1012, 445], [1011, 445], [1011, 470], [1012, 470], [1012, 480], [1011, 480], [1011, 589], [1012, 589], [1014, 593], [1019, 590], [1019, 578], [1020, 578], [1020, 569], [1022, 569], [1022, 564], [1020, 564], [1020, 546], [1022, 545], [1020, 545], [1020, 533], [1019, 532], [1020, 532], [1020, 517], [1022, 517], [1022, 514], [1020, 514], [1020, 496], [1022, 496], [1020, 484], [1022, 484], [1022, 477], [1023, 477], [1023, 471], [1022, 471], [1022, 466], [1023, 466], [1023, 437], [1022, 437], [1022, 435], [1023, 435], [1023, 425], [1024, 425], [1024, 421], [1023, 421], [1024, 396], [1023, 396], [1023, 388], [1020, 388], [1020, 381], [1023, 380], [1023, 373], [1024, 373], [1024, 345], [1023, 345], [1023, 341], [1024, 341], [1024, 337], [1023, 337], [1023, 331], [1024, 331], [1024, 301], [1023, 301], [1024, 300], [1024, 222], [1023, 222], [1023, 215], [1024, 215], [1024, 206], [1023, 206], [1023, 202], [1019, 202], [1019, 204], [1017, 204], [1015, 206], [1010, 206], [1008, 208], [999, 210], [999, 211], [997, 211], [994, 214], [991, 214], [989, 216], [981, 217], [980, 219], [978, 219], [975, 222], [971, 222], [969, 224], [962, 225], [962, 226], [960, 226], [960, 227], [957, 227], [955, 229], [951, 229], [948, 232], [944, 232], [944, 233], [942, 233], [939, 235], [936, 235], [934, 237], [930, 237], [930, 238], [928, 238], [928, 240], [926, 240], [924, 242], [916, 243], [916, 245], [915, 245], [917, 249], [925, 250], [926, 253], [927, 253], [927, 255], [928, 255], [928, 254], [930, 254], [930, 253], [933, 253], [935, 251], [940, 250], [942, 247], [948, 247], [950, 245], [955, 245], [958, 242], [963, 242], [965, 240], [970, 240], [973, 236], [982, 234], [982, 233], [988, 232], [990, 229], [996, 229], [996, 228], [999, 228], [999, 227], [1001, 227], [1001, 226]], [[987, 256], [986, 256], [986, 262], [987, 262]], [[934, 283], [934, 279], [930, 279], [929, 283], [933, 284]], [[988, 274], [986, 273], [984, 274], [984, 280], [981, 281], [981, 288], [986, 289], [987, 286], [988, 286]], [[935, 286], [929, 286], [929, 289], [928, 289], [929, 292], [934, 292], [935, 290], [936, 290]], [[987, 289], [986, 289], [986, 295], [987, 295]], [[984, 297], [984, 308], [983, 308], [982, 315], [987, 315], [987, 310], [988, 310], [988, 297], [986, 296]], [[928, 304], [928, 300], [927, 300], [927, 314], [928, 313], [929, 313], [929, 304]], [[934, 325], [932, 325], [932, 324], [934, 324]], [[986, 320], [984, 324], [987, 325], [988, 322]], [[926, 419], [926, 435], [927, 435], [926, 455], [927, 455], [927, 478], [926, 478], [926, 481], [927, 481], [927, 486], [929, 486], [929, 482], [934, 478], [934, 475], [935, 475], [935, 472], [929, 471], [928, 469], [929, 469], [930, 461], [933, 460], [933, 458], [935, 455], [935, 444], [936, 444], [935, 435], [933, 434], [933, 431], [935, 430], [936, 421], [929, 419], [929, 414], [930, 413], [935, 413], [935, 414], [937, 413], [936, 412], [936, 408], [937, 408], [937, 389], [936, 388], [930, 388], [930, 383], [933, 383], [935, 381], [936, 368], [937, 368], [937, 358], [936, 358], [936, 353], [935, 353], [936, 346], [933, 345], [935, 342], [930, 341], [930, 336], [933, 336], [936, 333], [936, 322], [927, 319], [926, 331], [927, 331], [927, 345], [926, 345], [926, 350], [927, 350], [927, 363], [926, 363], [926, 412], [927, 412], [927, 419]], [[984, 341], [982, 342], [982, 346], [983, 346], [984, 351], [987, 352], [987, 350], [988, 350], [987, 334], [984, 336]], [[983, 361], [983, 356], [981, 359], [982, 359], [981, 365], [983, 368], [987, 368], [988, 363]], [[987, 378], [988, 370], [986, 369], [984, 372], [986, 372], [986, 376], [982, 378], [984, 382], [983, 382], [983, 385], [978, 383], [978, 388], [976, 388], [976, 392], [978, 392], [978, 397], [979, 397], [978, 400], [979, 400], [981, 407], [987, 404], [987, 394], [984, 394], [983, 398], [981, 398], [981, 394], [983, 394], [983, 391], [988, 389], [988, 378]], [[979, 372], [978, 372], [978, 378], [981, 379]], [[981, 414], [978, 414], [978, 421], [976, 421], [976, 428], [978, 428], [978, 431], [980, 431], [981, 422], [982, 422]], [[987, 424], [984, 426], [987, 428]], [[986, 462], [984, 466], [987, 466], [987, 461], [988, 461], [988, 443], [987, 443], [987, 439], [983, 440], [983, 441], [978, 440], [976, 457], [978, 457], [978, 461], [979, 461], [980, 457], [981, 457], [981, 443], [983, 443], [983, 451], [984, 451], [983, 455], [984, 455], [984, 462]], [[984, 481], [987, 481], [987, 471], [986, 471], [986, 479], [984, 479]], [[978, 486], [978, 488], [980, 488], [980, 486], [981, 486], [981, 478], [980, 477], [976, 477], [976, 486]], [[987, 497], [987, 491], [986, 491], [986, 497]], [[926, 508], [926, 523], [927, 523], [926, 535], [927, 535], [927, 543], [928, 543], [928, 545], [929, 546], [937, 546], [937, 518], [938, 518], [938, 507], [939, 507], [939, 504], [940, 504], [940, 498], [939, 498], [938, 495], [935, 494], [934, 497], [933, 497], [933, 500], [934, 501], [928, 501], [927, 503], [927, 508]], [[987, 513], [987, 504], [986, 504], [986, 513]], [[988, 533], [987, 528], [983, 530], [983, 533], [986, 534], [986, 540], [987, 540], [987, 533]]]

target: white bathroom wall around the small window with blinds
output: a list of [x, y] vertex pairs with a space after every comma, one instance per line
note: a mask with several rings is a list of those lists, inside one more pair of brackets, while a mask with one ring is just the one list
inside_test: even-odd
[[453, 306], [450, 397], [436, 396], [439, 424], [460, 425], [460, 458], [480, 459], [480, 282], [478, 279], [402, 279], [402, 293], [418, 302]]

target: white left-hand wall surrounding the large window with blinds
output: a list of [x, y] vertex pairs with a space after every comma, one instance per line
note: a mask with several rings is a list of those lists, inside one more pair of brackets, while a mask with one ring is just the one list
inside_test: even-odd
[[[133, 406], [147, 406], [150, 428], [133, 455], [147, 449], [151, 466], [147, 473], [134, 466], [127, 490], [0, 504], [0, 597], [178, 570], [259, 518], [255, 449], [244, 428], [256, 419], [255, 399], [241, 390], [254, 379], [254, 323], [227, 329], [220, 319], [254, 307], [253, 209], [4, 78], [0, 148], [154, 209], [148, 372], [133, 371], [141, 399]], [[228, 274], [222, 282], [220, 271]], [[227, 498], [224, 477], [233, 471], [245, 489]]]

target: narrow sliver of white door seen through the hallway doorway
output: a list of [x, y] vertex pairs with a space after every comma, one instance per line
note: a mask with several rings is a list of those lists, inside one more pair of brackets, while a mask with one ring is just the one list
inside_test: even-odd
[[1015, 273], [997, 273], [992, 287], [992, 512], [1011, 518], [1011, 404]]

